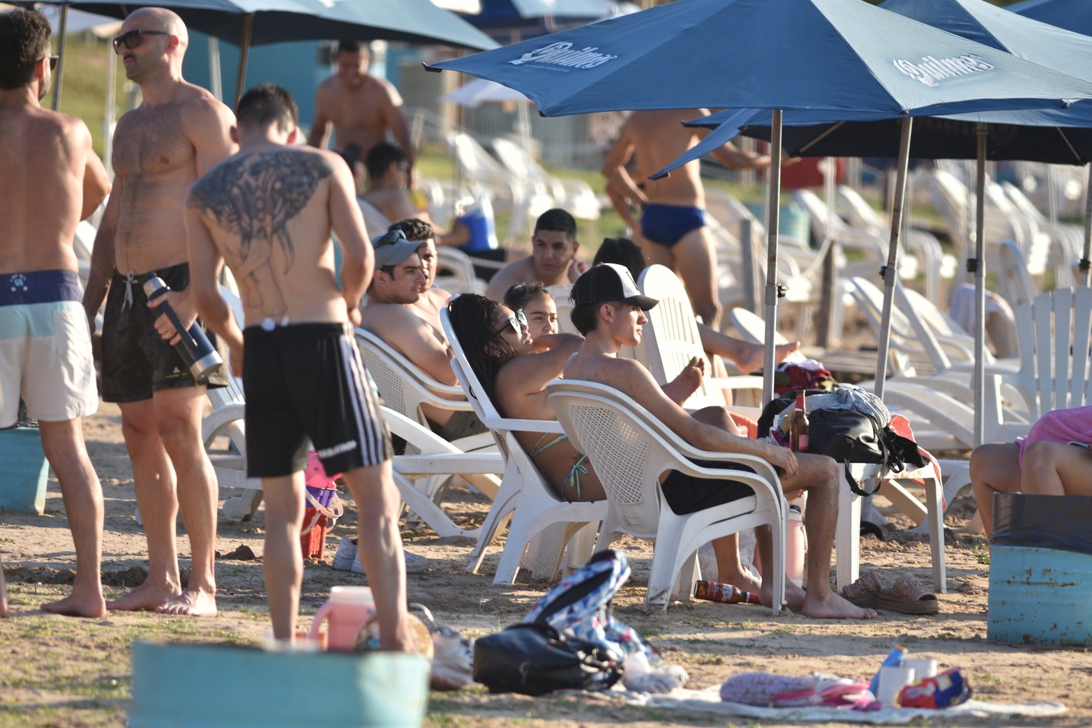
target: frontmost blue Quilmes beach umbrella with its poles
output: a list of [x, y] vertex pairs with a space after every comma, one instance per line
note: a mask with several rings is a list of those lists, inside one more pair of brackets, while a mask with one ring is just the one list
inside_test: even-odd
[[[776, 194], [781, 115], [792, 109], [904, 118], [1064, 106], [1090, 84], [937, 31], [859, 0], [676, 0], [667, 5], [444, 61], [517, 88], [544, 116], [695, 107], [772, 109], [767, 342], [776, 327]], [[905, 183], [892, 214], [888, 270], [897, 270]], [[893, 277], [889, 277], [893, 282]], [[768, 347], [763, 395], [773, 392]]]

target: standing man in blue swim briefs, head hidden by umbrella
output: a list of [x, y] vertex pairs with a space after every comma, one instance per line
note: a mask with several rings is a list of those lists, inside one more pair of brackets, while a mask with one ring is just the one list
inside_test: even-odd
[[[660, 263], [682, 278], [696, 314], [720, 331], [721, 303], [716, 295], [716, 251], [705, 228], [705, 191], [699, 160], [684, 165], [670, 177], [649, 180], [648, 175], [666, 167], [697, 145], [708, 130], [684, 127], [680, 121], [709, 116], [709, 109], [634, 111], [621, 128], [603, 162], [613, 199], [630, 200], [640, 207], [641, 235], [637, 242], [648, 263]], [[626, 164], [638, 153], [638, 179]], [[733, 169], [752, 169], [770, 164], [761, 156], [736, 148], [729, 142], [713, 156]], [[617, 206], [617, 202], [616, 202]]]

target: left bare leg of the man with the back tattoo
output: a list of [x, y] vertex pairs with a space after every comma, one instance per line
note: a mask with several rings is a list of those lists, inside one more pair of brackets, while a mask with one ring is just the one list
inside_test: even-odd
[[304, 527], [304, 474], [262, 478], [262, 492], [265, 499], [262, 571], [273, 636], [292, 641], [304, 580], [304, 554], [299, 548], [299, 532]]

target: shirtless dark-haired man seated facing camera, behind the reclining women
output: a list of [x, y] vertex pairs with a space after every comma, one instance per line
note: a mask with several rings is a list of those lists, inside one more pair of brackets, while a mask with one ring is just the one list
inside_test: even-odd
[[577, 259], [577, 220], [563, 210], [547, 210], [535, 220], [530, 255], [512, 261], [489, 281], [489, 298], [499, 301], [518, 283], [538, 282], [544, 286], [572, 283], [587, 270]]

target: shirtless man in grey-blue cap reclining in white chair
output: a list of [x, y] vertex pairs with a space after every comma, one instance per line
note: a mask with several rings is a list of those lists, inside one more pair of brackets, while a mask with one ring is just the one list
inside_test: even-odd
[[[428, 286], [428, 271], [420, 259], [420, 243], [406, 240], [400, 229], [371, 241], [376, 271], [368, 288], [360, 326], [400, 351], [426, 374], [455, 386], [459, 380], [451, 369], [453, 353], [443, 330], [418, 315], [415, 308]], [[462, 397], [461, 397], [462, 398]], [[428, 404], [422, 411], [444, 440], [459, 440], [486, 431], [482, 420], [470, 410], [442, 409]]]

